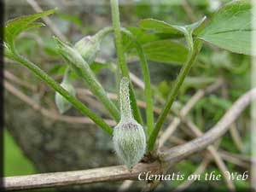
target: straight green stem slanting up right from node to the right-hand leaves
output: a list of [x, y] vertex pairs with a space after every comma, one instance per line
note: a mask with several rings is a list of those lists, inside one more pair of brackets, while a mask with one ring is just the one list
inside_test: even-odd
[[165, 108], [161, 111], [160, 117], [157, 119], [157, 122], [154, 126], [154, 130], [152, 131], [149, 139], [148, 139], [148, 151], [151, 151], [154, 149], [154, 143], [156, 141], [156, 138], [158, 136], [158, 133], [160, 131], [161, 126], [164, 124], [167, 114], [169, 113], [170, 109], [172, 108], [172, 103], [174, 102], [178, 90], [183, 84], [183, 80], [186, 78], [186, 76], [189, 73], [190, 68], [194, 64], [196, 60], [196, 56], [199, 54], [201, 50], [201, 40], [196, 39], [194, 44], [194, 49], [189, 52], [189, 57], [187, 61], [184, 63], [180, 73], [177, 76], [176, 82], [174, 86], [172, 87], [171, 94], [168, 98], [168, 101], [166, 102]]

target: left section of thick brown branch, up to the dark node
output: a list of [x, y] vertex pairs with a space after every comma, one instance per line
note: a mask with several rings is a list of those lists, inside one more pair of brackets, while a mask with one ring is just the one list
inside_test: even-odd
[[141, 172], [159, 172], [160, 164], [138, 164], [131, 172], [125, 166], [108, 166], [84, 171], [52, 172], [28, 176], [4, 177], [3, 186], [6, 190], [37, 189], [73, 184], [89, 184], [124, 179], [137, 179]]

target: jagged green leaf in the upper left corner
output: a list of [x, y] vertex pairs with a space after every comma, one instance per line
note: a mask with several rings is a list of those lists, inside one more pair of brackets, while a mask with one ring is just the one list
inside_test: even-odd
[[46, 15], [53, 14], [56, 9], [50, 9], [48, 11], [44, 11], [42, 13], [34, 14], [34, 15], [26, 15], [16, 18], [14, 20], [9, 20], [7, 25], [4, 28], [4, 41], [7, 46], [14, 50], [14, 41], [15, 38], [20, 34], [20, 32], [26, 31], [30, 28], [44, 26], [43, 23], [33, 23], [33, 21], [38, 20], [41, 17]]

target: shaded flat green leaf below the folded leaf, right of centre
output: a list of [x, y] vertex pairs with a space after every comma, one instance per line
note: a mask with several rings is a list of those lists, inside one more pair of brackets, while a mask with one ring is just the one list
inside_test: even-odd
[[183, 64], [189, 53], [185, 46], [172, 40], [160, 40], [144, 44], [143, 50], [148, 60], [167, 64]]

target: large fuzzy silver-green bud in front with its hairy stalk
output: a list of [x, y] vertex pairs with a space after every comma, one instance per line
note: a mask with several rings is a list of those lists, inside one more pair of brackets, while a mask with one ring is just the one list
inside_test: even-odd
[[135, 166], [146, 152], [146, 136], [143, 126], [137, 123], [131, 113], [129, 79], [120, 82], [121, 120], [113, 130], [113, 147], [119, 159], [128, 169]]

